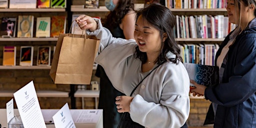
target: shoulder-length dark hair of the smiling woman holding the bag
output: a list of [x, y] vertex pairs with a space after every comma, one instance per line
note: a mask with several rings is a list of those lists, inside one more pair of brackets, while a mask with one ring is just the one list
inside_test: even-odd
[[[155, 60], [155, 63], [159, 64], [165, 60], [176, 64], [178, 63], [177, 60], [182, 62], [182, 58], [179, 55], [180, 49], [174, 38], [173, 27], [176, 24], [176, 20], [172, 12], [167, 7], [159, 3], [151, 3], [148, 7], [137, 10], [136, 20], [140, 15], [154, 28], [159, 30], [161, 39], [163, 38], [163, 33], [167, 34], [167, 38], [161, 42], [161, 51]], [[166, 53], [169, 51], [175, 54], [175, 58], [167, 58]], [[147, 61], [146, 53], [141, 52], [138, 46], [135, 47], [134, 54], [136, 58], [139, 58], [142, 61], [142, 63]]]

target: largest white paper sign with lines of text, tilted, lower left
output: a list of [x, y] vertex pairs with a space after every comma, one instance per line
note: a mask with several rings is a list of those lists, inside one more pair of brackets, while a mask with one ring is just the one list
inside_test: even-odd
[[13, 93], [24, 127], [46, 128], [33, 81]]

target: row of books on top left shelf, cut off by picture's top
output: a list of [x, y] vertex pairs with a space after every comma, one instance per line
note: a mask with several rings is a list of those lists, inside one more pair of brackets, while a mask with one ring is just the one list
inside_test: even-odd
[[0, 0], [0, 8], [36, 8], [36, 7], [37, 8], [66, 8], [66, 0]]

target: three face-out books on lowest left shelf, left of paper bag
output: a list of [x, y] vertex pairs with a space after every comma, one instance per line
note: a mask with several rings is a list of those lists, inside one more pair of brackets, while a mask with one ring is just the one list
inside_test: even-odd
[[[19, 65], [31, 66], [33, 63], [33, 48], [34, 46], [20, 46]], [[54, 54], [55, 46], [53, 47]], [[36, 65], [49, 66], [50, 65], [50, 46], [38, 46]], [[3, 46], [2, 65], [14, 66], [16, 65], [16, 46]]]

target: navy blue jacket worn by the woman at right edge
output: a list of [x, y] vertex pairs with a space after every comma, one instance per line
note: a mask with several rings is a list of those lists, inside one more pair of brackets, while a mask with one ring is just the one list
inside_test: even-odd
[[[216, 52], [215, 64], [229, 35]], [[218, 104], [214, 127], [256, 127], [256, 18], [236, 36], [227, 55], [222, 82], [204, 92], [206, 99]]]

